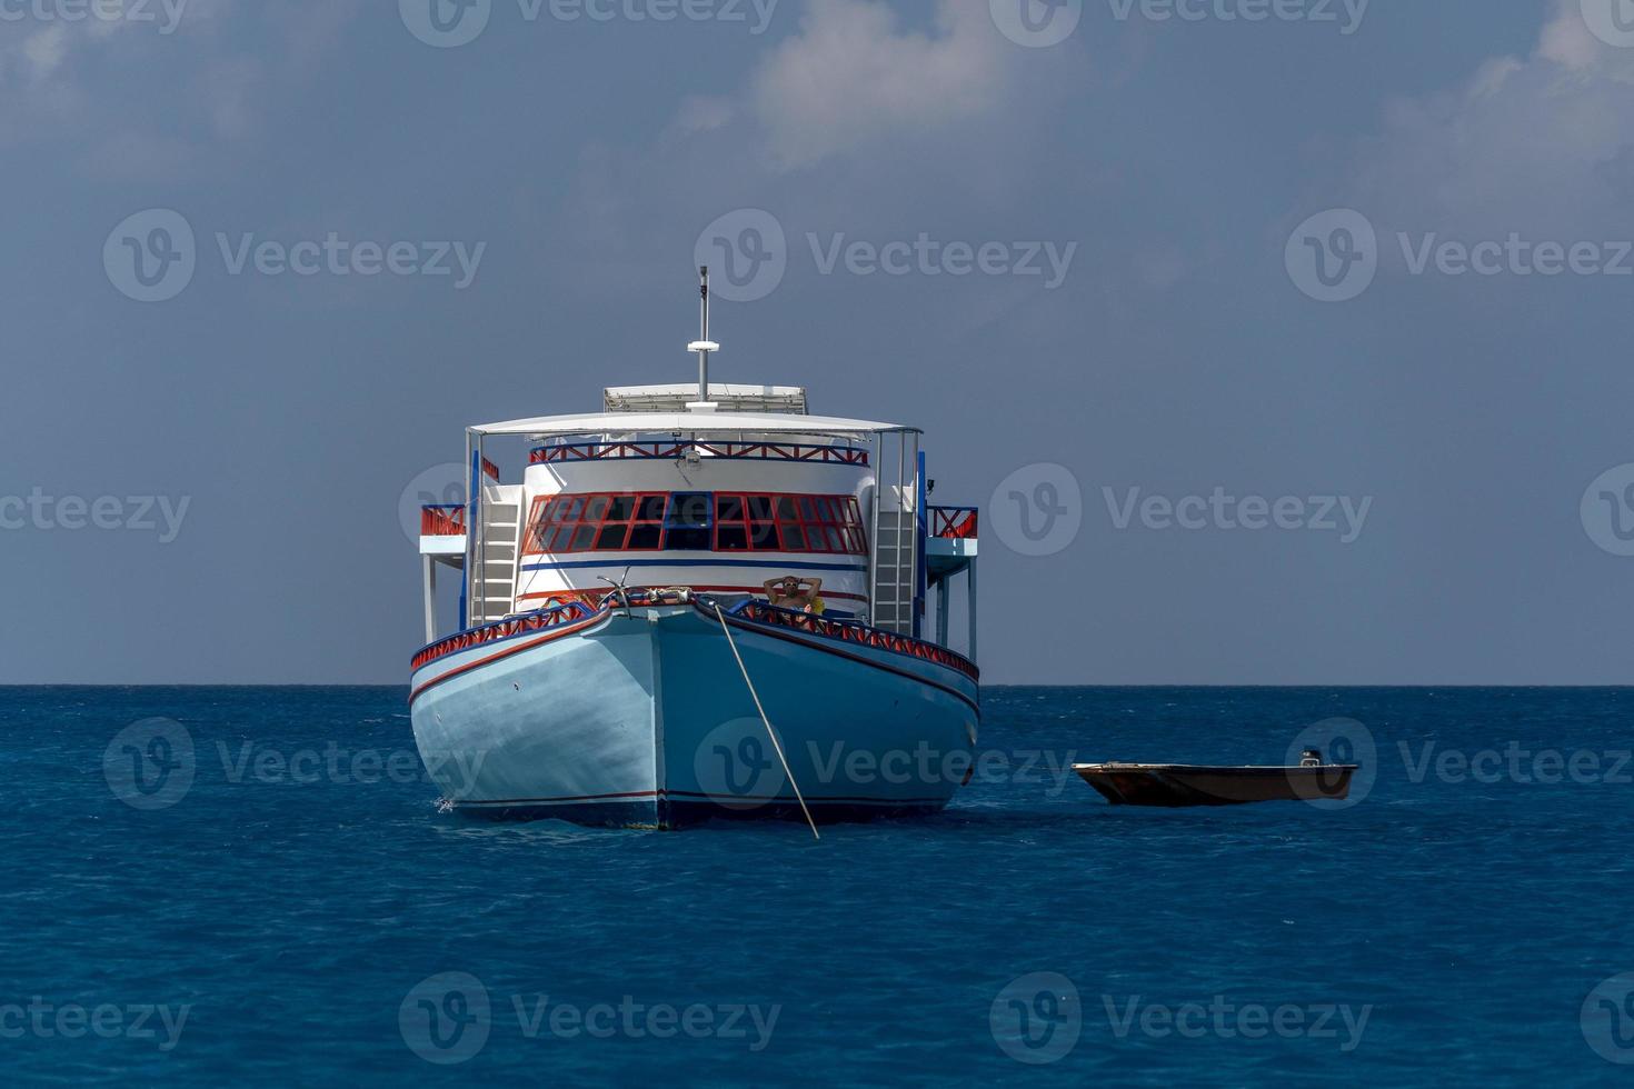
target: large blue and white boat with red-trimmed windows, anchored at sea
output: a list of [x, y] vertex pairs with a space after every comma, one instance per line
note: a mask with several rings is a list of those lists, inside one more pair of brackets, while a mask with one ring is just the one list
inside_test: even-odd
[[917, 428], [711, 382], [708, 268], [699, 287], [696, 385], [471, 426], [464, 503], [422, 509], [408, 702], [446, 808], [815, 833], [936, 811], [969, 777], [977, 509], [930, 504]]

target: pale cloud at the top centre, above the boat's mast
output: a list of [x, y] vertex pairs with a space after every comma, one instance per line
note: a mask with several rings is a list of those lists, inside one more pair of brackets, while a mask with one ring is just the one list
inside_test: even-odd
[[920, 33], [876, 0], [815, 0], [750, 77], [750, 101], [773, 160], [807, 167], [992, 113], [1020, 52], [985, 3], [938, 0], [935, 28]]

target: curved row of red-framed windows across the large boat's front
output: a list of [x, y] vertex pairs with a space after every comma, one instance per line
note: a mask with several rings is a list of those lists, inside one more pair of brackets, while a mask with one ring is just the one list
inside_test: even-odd
[[868, 547], [848, 495], [624, 491], [539, 496], [523, 550], [863, 555]]

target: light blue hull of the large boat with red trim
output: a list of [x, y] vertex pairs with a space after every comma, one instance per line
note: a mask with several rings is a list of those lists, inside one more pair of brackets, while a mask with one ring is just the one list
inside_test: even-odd
[[[770, 624], [734, 619], [732, 637], [819, 820], [936, 811], [967, 777], [974, 678]], [[438, 658], [413, 676], [412, 718], [461, 811], [657, 828], [801, 818], [719, 620], [693, 606]]]

